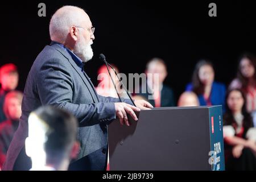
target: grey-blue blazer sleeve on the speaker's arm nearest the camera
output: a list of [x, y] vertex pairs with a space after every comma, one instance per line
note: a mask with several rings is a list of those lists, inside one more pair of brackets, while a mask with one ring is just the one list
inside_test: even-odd
[[[80, 126], [92, 126], [115, 119], [114, 103], [73, 104], [73, 79], [63, 60], [48, 60], [36, 74], [36, 89], [43, 105], [55, 105], [75, 115]], [[114, 101], [114, 100], [113, 100]]]

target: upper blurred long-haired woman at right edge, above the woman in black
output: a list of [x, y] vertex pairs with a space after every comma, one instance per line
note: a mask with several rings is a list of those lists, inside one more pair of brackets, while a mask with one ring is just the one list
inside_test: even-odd
[[237, 78], [229, 85], [229, 89], [241, 89], [246, 95], [246, 109], [249, 112], [256, 110], [256, 57], [245, 53], [239, 59]]

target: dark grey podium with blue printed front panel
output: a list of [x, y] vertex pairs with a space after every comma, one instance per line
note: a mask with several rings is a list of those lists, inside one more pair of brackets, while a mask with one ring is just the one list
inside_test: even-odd
[[109, 125], [110, 170], [225, 170], [222, 107], [142, 110]]

